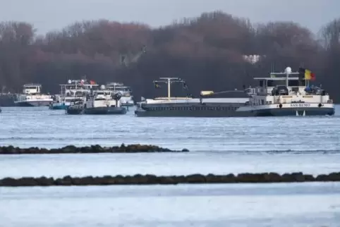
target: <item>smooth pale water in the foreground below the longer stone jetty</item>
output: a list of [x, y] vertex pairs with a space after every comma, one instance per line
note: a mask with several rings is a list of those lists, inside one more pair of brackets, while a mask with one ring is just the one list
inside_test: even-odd
[[1, 188], [4, 226], [339, 226], [338, 183]]

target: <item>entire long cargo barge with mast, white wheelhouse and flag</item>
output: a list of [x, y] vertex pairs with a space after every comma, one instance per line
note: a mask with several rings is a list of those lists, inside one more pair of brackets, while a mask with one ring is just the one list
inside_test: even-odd
[[[243, 91], [201, 92], [200, 98], [171, 97], [171, 83], [186, 82], [179, 78], [160, 78], [154, 81], [168, 85], [168, 97], [143, 99], [135, 116], [151, 117], [243, 117], [243, 116], [324, 116], [334, 115], [329, 94], [320, 87], [310, 86], [310, 70], [300, 68], [292, 73], [271, 73], [269, 77], [254, 78], [259, 87]], [[185, 86], [184, 86], [185, 85]], [[229, 94], [236, 92], [235, 97]], [[238, 94], [239, 96], [238, 96]], [[228, 94], [228, 95], [226, 95]], [[241, 95], [242, 94], [242, 95]], [[219, 97], [219, 96], [225, 97]]]

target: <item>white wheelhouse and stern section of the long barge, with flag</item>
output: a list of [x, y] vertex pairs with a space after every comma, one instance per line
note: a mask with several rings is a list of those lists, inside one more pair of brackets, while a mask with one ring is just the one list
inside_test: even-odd
[[[309, 75], [306, 75], [308, 71]], [[247, 106], [236, 110], [240, 115], [254, 116], [332, 116], [333, 100], [321, 87], [310, 86], [310, 70], [271, 73], [270, 77], [254, 78], [260, 82]], [[309, 78], [308, 78], [309, 77]]]

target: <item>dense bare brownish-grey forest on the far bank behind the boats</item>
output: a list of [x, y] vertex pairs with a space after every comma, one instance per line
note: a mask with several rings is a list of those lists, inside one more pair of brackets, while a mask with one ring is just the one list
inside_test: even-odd
[[[245, 59], [253, 55], [258, 61]], [[86, 76], [98, 84], [124, 82], [140, 100], [166, 94], [152, 80], [179, 77], [195, 95], [253, 85], [252, 78], [267, 76], [273, 64], [280, 71], [303, 64], [340, 102], [340, 18], [317, 35], [293, 22], [255, 25], [219, 11], [156, 29], [82, 21], [44, 36], [29, 23], [0, 23], [0, 86], [6, 92], [39, 82], [45, 92], [56, 93], [59, 84]]]

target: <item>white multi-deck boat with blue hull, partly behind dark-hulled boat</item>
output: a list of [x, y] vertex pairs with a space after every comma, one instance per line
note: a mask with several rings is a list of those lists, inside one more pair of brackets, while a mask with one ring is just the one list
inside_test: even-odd
[[67, 84], [60, 85], [61, 91], [56, 95], [56, 99], [51, 104], [50, 109], [67, 109], [74, 99], [83, 99], [85, 102], [86, 95], [90, 94], [90, 88], [98, 87], [94, 81], [90, 80], [68, 80]]

